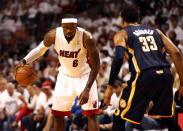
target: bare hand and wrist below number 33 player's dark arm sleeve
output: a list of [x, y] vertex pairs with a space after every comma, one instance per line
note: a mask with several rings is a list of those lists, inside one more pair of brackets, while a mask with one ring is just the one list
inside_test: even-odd
[[108, 85], [104, 93], [104, 103], [107, 106], [111, 106], [110, 101], [111, 101], [112, 94], [113, 94], [113, 86]]

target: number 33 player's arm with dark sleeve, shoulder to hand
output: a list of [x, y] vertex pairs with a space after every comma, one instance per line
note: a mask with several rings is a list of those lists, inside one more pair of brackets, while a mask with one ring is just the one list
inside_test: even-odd
[[127, 34], [125, 30], [121, 30], [120, 32], [116, 33], [114, 36], [114, 44], [115, 44], [115, 53], [114, 59], [111, 66], [110, 76], [109, 76], [109, 85], [104, 94], [104, 103], [106, 105], [110, 105], [110, 99], [113, 93], [114, 82], [118, 76], [118, 73], [121, 69], [123, 63], [123, 57], [126, 48], [126, 40]]

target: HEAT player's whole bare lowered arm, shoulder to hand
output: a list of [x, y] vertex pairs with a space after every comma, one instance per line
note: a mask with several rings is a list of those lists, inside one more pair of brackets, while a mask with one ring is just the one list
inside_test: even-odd
[[96, 80], [96, 77], [100, 68], [99, 53], [95, 44], [95, 40], [92, 38], [92, 35], [87, 31], [85, 31], [83, 35], [84, 35], [83, 44], [88, 52], [88, 56], [91, 64], [91, 71], [89, 74], [86, 87], [79, 97], [80, 105], [87, 103], [89, 98], [90, 88], [93, 82]]

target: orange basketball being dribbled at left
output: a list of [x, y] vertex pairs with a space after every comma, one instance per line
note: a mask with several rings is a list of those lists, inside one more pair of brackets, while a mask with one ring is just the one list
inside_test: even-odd
[[36, 80], [36, 72], [30, 65], [18, 66], [15, 79], [22, 86], [28, 86]]

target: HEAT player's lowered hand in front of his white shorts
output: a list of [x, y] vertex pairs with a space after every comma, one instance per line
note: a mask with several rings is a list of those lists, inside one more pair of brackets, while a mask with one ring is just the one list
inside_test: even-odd
[[86, 88], [83, 90], [83, 92], [79, 96], [79, 105], [84, 105], [88, 102], [89, 99], [89, 90]]

